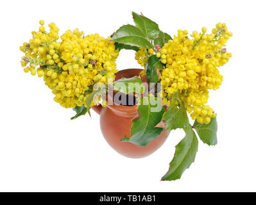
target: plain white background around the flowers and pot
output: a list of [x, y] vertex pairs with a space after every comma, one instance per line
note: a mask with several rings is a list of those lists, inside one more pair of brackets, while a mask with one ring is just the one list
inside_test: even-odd
[[[256, 191], [255, 1], [1, 1], [0, 191], [178, 192]], [[234, 33], [230, 61], [221, 67], [223, 85], [210, 93], [218, 113], [218, 145], [200, 142], [196, 161], [182, 179], [161, 182], [175, 145], [184, 136], [172, 131], [157, 152], [125, 158], [105, 142], [99, 116], [70, 120], [53, 101], [42, 79], [22, 71], [19, 46], [38, 29], [55, 22], [60, 33], [79, 28], [108, 37], [131, 12], [142, 12], [160, 29], [210, 31], [225, 22]], [[140, 68], [133, 51], [121, 51], [118, 69]]]

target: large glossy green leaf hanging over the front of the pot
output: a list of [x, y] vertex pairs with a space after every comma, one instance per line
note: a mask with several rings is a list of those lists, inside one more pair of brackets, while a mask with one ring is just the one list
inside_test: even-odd
[[[153, 106], [152, 101], [157, 103], [158, 109], [156, 109], [156, 106]], [[141, 104], [138, 106], [138, 112], [140, 117], [133, 120], [130, 138], [124, 137], [122, 142], [131, 142], [142, 147], [148, 145], [149, 142], [157, 138], [162, 132], [162, 128], [155, 126], [160, 122], [164, 108], [159, 98], [143, 97], [141, 98]]]

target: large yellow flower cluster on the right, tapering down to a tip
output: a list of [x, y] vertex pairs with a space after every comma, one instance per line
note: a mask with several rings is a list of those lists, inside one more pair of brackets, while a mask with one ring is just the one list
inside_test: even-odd
[[227, 53], [225, 44], [232, 33], [228, 32], [226, 24], [218, 23], [211, 34], [178, 30], [178, 36], [169, 40], [157, 56], [166, 64], [160, 76], [163, 85], [164, 103], [179, 91], [186, 109], [192, 119], [209, 124], [210, 118], [216, 114], [205, 104], [209, 98], [209, 89], [216, 90], [223, 81], [218, 67], [224, 65], [232, 56]]

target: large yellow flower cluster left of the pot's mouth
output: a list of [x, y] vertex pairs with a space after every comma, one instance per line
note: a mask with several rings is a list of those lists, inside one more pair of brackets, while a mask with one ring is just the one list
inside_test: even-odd
[[[21, 65], [25, 72], [44, 76], [45, 84], [55, 94], [54, 100], [65, 108], [85, 104], [95, 83], [107, 84], [117, 72], [115, 60], [119, 55], [110, 37], [98, 34], [83, 37], [83, 31], [67, 30], [58, 40], [55, 23], [49, 24], [49, 33], [40, 20], [39, 31], [20, 49], [25, 53]], [[85, 104], [86, 106], [86, 104]]]

